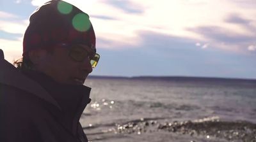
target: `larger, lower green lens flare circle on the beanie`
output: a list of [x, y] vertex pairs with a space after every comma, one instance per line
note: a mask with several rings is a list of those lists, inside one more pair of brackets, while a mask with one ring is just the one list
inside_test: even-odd
[[72, 20], [72, 25], [77, 31], [88, 31], [91, 27], [91, 22], [88, 15], [84, 13], [78, 13]]

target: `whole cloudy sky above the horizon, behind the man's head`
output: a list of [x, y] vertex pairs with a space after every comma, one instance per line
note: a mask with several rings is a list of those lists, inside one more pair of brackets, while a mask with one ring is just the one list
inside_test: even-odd
[[[44, 0], [0, 0], [0, 48], [22, 55]], [[100, 62], [92, 75], [256, 79], [255, 0], [67, 0], [88, 13]]]

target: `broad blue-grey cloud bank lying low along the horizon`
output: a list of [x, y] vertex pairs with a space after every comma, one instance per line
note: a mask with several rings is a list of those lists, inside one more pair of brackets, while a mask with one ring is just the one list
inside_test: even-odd
[[[139, 31], [137, 34], [142, 37], [141, 45], [138, 45], [140, 48], [122, 45], [120, 50], [99, 49], [104, 57], [95, 75], [255, 78], [256, 68], [253, 60], [256, 56], [240, 55], [216, 48], [202, 50], [195, 46], [194, 39], [159, 34], [159, 32]], [[200, 43], [200, 45], [204, 44]], [[109, 62], [113, 59], [117, 60]], [[113, 70], [113, 68], [122, 69]]]

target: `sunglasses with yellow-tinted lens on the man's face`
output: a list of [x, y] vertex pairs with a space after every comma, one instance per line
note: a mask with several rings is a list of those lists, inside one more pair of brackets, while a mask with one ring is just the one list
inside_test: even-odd
[[[68, 46], [69, 53], [68, 55], [71, 59], [76, 62], [83, 62], [86, 58], [90, 58], [90, 63], [92, 64], [92, 68], [95, 68], [100, 60], [99, 53], [90, 53], [86, 48], [80, 45], [69, 45], [69, 44], [61, 44], [61, 46]], [[89, 48], [89, 47], [88, 47]]]

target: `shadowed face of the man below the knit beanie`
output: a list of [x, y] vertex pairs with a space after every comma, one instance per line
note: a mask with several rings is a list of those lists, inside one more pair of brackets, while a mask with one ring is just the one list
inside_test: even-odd
[[[70, 46], [54, 46], [53, 52], [47, 52], [47, 55], [45, 55], [39, 70], [51, 76], [57, 82], [83, 85], [86, 77], [92, 72], [90, 57], [94, 53], [85, 45], [76, 45], [75, 47], [88, 52], [84, 60], [79, 62], [72, 59], [70, 57]], [[79, 50], [75, 50], [75, 52], [79, 53]]]

